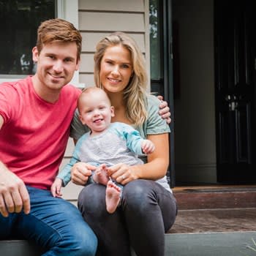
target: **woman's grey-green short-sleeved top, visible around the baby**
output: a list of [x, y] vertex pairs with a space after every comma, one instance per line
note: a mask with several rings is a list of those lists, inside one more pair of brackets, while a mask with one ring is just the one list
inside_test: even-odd
[[[134, 127], [138, 130], [138, 132], [140, 132], [140, 136], [144, 139], [146, 139], [148, 135], [157, 135], [170, 132], [170, 127], [166, 124], [165, 119], [159, 116], [160, 103], [161, 102], [157, 97], [150, 94], [147, 95], [146, 105], [148, 117], [141, 127]], [[75, 140], [78, 140], [86, 132], [89, 132], [89, 128], [80, 122], [78, 110], [76, 110], [71, 124], [70, 136]], [[145, 157], [143, 162], [146, 162]], [[164, 178], [160, 178], [157, 180], [157, 182], [171, 192], [166, 176]]]

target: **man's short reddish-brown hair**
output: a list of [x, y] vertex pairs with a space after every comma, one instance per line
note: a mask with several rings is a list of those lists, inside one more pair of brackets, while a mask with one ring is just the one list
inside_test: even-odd
[[60, 18], [45, 20], [37, 29], [37, 50], [40, 53], [44, 44], [50, 42], [75, 42], [78, 47], [78, 60], [82, 48], [82, 36], [72, 23]]

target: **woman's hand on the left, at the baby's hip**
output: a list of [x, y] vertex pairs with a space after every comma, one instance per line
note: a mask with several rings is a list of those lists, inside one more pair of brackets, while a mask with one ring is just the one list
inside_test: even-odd
[[89, 176], [91, 176], [91, 170], [96, 170], [97, 167], [86, 164], [85, 162], [76, 163], [71, 170], [71, 180], [77, 185], [84, 186]]

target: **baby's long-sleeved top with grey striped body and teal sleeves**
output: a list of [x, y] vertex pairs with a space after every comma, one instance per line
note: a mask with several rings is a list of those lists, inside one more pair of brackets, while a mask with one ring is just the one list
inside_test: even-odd
[[91, 132], [86, 132], [79, 138], [72, 158], [58, 178], [66, 186], [71, 180], [72, 166], [77, 162], [88, 162], [95, 166], [112, 166], [118, 163], [143, 165], [138, 157], [143, 155], [143, 140], [138, 130], [120, 122], [111, 123], [107, 129], [94, 136], [91, 136]]

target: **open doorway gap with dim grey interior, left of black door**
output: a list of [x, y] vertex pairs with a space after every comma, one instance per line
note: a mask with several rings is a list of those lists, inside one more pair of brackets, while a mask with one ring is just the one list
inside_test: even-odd
[[176, 184], [216, 184], [214, 0], [173, 0], [172, 13]]

